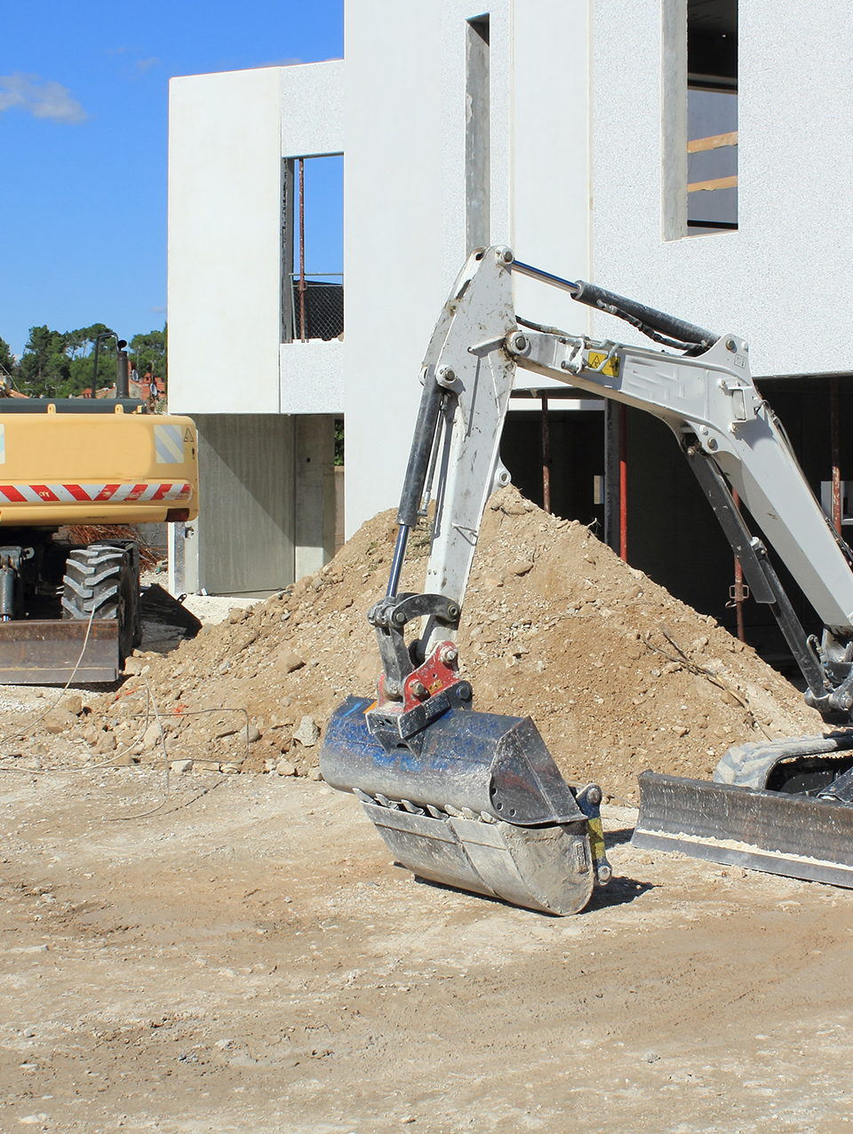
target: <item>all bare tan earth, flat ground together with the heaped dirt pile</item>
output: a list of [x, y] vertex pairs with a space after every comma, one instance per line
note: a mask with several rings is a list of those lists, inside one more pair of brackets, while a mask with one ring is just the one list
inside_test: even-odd
[[602, 785], [615, 877], [569, 919], [413, 879], [318, 767], [375, 680], [392, 540], [382, 514], [296, 586], [201, 604], [115, 686], [0, 689], [0, 1131], [850, 1129], [853, 892], [628, 841], [644, 768], [709, 778], [817, 714], [505, 490], [463, 674]]

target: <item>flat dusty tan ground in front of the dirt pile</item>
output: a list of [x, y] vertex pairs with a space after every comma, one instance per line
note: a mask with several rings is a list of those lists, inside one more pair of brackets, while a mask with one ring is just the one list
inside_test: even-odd
[[853, 895], [634, 850], [560, 920], [414, 881], [351, 796], [6, 775], [0, 1129], [850, 1129]]

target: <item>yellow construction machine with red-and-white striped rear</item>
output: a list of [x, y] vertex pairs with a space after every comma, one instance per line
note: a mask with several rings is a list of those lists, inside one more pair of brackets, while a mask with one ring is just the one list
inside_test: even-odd
[[138, 544], [67, 528], [199, 515], [195, 425], [127, 397], [123, 354], [115, 398], [0, 398], [0, 684], [115, 680], [140, 644]]

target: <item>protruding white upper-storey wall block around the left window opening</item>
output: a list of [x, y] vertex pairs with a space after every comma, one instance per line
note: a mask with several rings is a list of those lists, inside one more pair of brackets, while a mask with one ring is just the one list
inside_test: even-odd
[[281, 345], [282, 159], [340, 153], [344, 64], [175, 78], [169, 405], [339, 413], [340, 344]]

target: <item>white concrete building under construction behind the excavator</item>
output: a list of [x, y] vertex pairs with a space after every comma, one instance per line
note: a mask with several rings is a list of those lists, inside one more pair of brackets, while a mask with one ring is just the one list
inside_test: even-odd
[[[853, 371], [853, 31], [820, 7], [753, 0], [738, 29], [737, 0], [347, 0], [344, 60], [174, 79], [169, 399], [205, 492], [187, 583], [270, 590], [330, 555], [336, 417], [347, 533], [396, 503], [421, 357], [481, 244], [736, 330], [759, 376]], [[345, 335], [302, 342], [297, 160], [332, 153]], [[634, 338], [530, 280], [516, 303]], [[601, 406], [560, 405], [572, 451], [596, 435], [598, 507]]]

